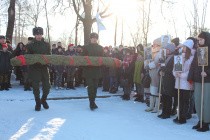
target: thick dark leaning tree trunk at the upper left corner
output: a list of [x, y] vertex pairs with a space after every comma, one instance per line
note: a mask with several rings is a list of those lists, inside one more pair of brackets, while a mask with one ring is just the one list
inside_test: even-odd
[[8, 8], [8, 25], [6, 38], [12, 42], [12, 36], [15, 24], [15, 0], [10, 0], [10, 6]]

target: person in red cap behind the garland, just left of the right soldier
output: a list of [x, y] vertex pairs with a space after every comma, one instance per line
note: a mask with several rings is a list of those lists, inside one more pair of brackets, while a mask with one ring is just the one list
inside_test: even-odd
[[[76, 51], [74, 50], [74, 44], [69, 44], [68, 50], [66, 51], [65, 55], [67, 56], [76, 56]], [[75, 89], [74, 88], [74, 74], [76, 71], [76, 67], [73, 66], [66, 66], [66, 73], [67, 73], [67, 90]]]

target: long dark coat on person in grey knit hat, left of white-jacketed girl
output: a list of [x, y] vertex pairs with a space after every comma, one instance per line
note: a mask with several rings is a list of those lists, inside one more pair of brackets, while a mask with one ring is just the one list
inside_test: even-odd
[[173, 97], [176, 93], [174, 88], [175, 79], [173, 75], [174, 57], [168, 56], [166, 59], [166, 66], [161, 68], [164, 73], [162, 77], [162, 89], [161, 94]]

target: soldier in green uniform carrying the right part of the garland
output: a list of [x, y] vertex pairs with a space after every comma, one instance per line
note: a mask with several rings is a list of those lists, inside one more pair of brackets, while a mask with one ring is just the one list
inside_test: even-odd
[[[103, 56], [103, 47], [98, 45], [98, 34], [90, 34], [90, 44], [84, 46], [83, 56]], [[83, 69], [83, 77], [86, 79], [88, 97], [90, 101], [90, 109], [94, 110], [98, 108], [95, 104], [95, 98], [98, 88], [99, 79], [102, 77], [101, 68], [88, 66]]]

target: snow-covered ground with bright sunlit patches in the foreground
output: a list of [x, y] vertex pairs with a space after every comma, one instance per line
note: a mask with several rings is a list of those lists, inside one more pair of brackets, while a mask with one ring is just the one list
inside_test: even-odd
[[[118, 92], [118, 95], [122, 91]], [[110, 95], [98, 89], [98, 96]], [[170, 118], [145, 112], [146, 105], [122, 101], [118, 96], [97, 98], [99, 109], [89, 110], [86, 88], [51, 90], [49, 110], [34, 111], [32, 92], [19, 86], [0, 92], [0, 140], [210, 140], [210, 131], [192, 130], [196, 115], [187, 124], [176, 125]]]

